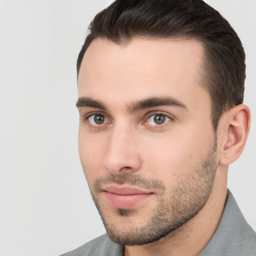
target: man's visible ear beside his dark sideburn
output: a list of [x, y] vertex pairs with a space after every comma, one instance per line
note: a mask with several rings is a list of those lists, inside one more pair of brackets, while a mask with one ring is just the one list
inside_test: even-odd
[[221, 139], [218, 141], [219, 164], [227, 166], [240, 156], [249, 127], [250, 110], [245, 104], [234, 106], [221, 116], [217, 130]]

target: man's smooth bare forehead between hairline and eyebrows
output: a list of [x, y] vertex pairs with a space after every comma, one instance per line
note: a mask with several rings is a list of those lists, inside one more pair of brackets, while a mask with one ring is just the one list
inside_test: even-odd
[[157, 95], [196, 100], [208, 94], [201, 85], [202, 59], [197, 40], [137, 38], [116, 44], [97, 38], [80, 66], [79, 97], [120, 104]]

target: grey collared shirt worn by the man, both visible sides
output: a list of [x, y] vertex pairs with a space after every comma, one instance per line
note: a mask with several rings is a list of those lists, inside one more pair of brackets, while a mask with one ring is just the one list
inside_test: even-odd
[[[123, 256], [123, 246], [103, 234], [61, 256]], [[256, 233], [229, 190], [216, 232], [198, 256], [256, 256]]]

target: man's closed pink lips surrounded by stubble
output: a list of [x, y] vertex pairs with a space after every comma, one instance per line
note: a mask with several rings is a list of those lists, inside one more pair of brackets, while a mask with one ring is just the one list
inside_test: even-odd
[[108, 185], [103, 187], [107, 201], [115, 208], [130, 209], [145, 201], [153, 193], [130, 186]]

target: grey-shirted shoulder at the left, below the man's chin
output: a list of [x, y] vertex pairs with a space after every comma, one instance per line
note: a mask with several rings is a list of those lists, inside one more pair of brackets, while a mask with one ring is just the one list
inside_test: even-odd
[[103, 234], [60, 256], [122, 256], [122, 252], [121, 245], [112, 242], [107, 234]]

